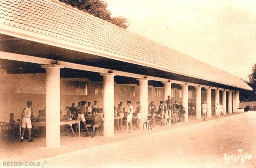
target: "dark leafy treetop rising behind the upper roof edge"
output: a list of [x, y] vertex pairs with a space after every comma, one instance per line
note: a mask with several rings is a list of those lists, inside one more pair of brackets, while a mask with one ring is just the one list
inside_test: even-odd
[[93, 16], [111, 22], [121, 28], [128, 28], [128, 20], [122, 16], [112, 17], [111, 12], [107, 9], [108, 4], [101, 0], [59, 0], [65, 4], [71, 5], [74, 8], [78, 8]]

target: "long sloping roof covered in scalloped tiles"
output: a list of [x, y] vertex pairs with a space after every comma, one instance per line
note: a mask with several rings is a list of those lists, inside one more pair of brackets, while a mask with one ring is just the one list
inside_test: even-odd
[[[30, 36], [36, 33], [41, 40], [44, 38], [51, 44], [58, 41], [100, 56], [251, 90], [237, 76], [57, 0], [1, 0], [2, 25], [10, 26], [8, 31], [16, 34]], [[180, 66], [180, 62], [184, 66]]]

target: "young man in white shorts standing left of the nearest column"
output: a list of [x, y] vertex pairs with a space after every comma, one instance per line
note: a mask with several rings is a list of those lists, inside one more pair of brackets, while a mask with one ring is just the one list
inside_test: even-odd
[[23, 142], [23, 138], [24, 138], [24, 132], [26, 127], [28, 128], [28, 142], [33, 142], [33, 140], [31, 139], [31, 128], [32, 128], [32, 124], [31, 124], [31, 117], [34, 117], [34, 113], [33, 113], [33, 109], [32, 109], [32, 102], [28, 101], [27, 102], [27, 106], [26, 108], [24, 108], [24, 110], [21, 113], [21, 118], [22, 118], [22, 133], [21, 133], [21, 139], [20, 142]]

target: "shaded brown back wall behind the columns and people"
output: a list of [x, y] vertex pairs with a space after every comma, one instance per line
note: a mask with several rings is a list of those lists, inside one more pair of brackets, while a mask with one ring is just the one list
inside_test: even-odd
[[[60, 109], [65, 112], [66, 106], [71, 106], [74, 102], [77, 106], [78, 102], [85, 100], [93, 104], [94, 100], [98, 101], [98, 105], [103, 107], [103, 96], [101, 90], [98, 90], [99, 95], [95, 95], [95, 87], [102, 85], [102, 82], [78, 82], [76, 79], [61, 79], [60, 80]], [[84, 89], [84, 84], [87, 83], [87, 93]], [[1, 119], [0, 122], [8, 122], [9, 114], [14, 113], [14, 119], [21, 118], [20, 114], [26, 107], [26, 102], [31, 100], [33, 102], [32, 108], [35, 115], [38, 115], [38, 110], [45, 107], [45, 74], [6, 74], [6, 70], [0, 70], [0, 108]], [[125, 86], [133, 87], [134, 93], [125, 95]], [[148, 95], [148, 103], [152, 100], [159, 106], [159, 102], [163, 100], [162, 95], [156, 96], [156, 88], [148, 86], [151, 90]], [[151, 88], [151, 89], [150, 89]], [[163, 89], [163, 88], [160, 88]], [[172, 100], [182, 101], [178, 96], [179, 90], [175, 90], [175, 97]], [[123, 107], [127, 109], [126, 102], [130, 100], [134, 109], [136, 102], [139, 101], [139, 86], [136, 84], [114, 84], [114, 104], [117, 106], [119, 102], [123, 102]], [[129, 94], [129, 92], [128, 92]], [[170, 93], [171, 95], [171, 93]], [[194, 100], [194, 91], [189, 101]]]

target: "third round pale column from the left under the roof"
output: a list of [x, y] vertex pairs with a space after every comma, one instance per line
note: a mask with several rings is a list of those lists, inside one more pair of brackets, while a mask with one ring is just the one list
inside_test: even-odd
[[[139, 98], [140, 98], [140, 128], [143, 128], [143, 123], [145, 118], [148, 116], [148, 79], [141, 78], [137, 79], [139, 81]], [[136, 109], [136, 102], [134, 102], [133, 107]]]

